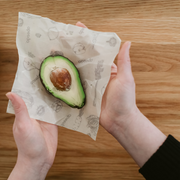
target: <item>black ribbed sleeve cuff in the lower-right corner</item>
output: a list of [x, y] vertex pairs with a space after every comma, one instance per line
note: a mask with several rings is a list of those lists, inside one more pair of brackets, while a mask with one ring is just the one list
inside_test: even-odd
[[139, 172], [146, 180], [180, 180], [180, 142], [169, 135]]

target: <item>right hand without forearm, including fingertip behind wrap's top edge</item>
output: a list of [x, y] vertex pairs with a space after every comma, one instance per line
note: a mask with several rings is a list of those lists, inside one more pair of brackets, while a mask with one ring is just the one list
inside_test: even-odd
[[[77, 26], [87, 28], [81, 22]], [[138, 112], [135, 99], [135, 82], [131, 71], [129, 48], [123, 44], [117, 56], [117, 65], [111, 66], [111, 77], [102, 98], [100, 124], [110, 133], [117, 127], [126, 128], [130, 116]]]

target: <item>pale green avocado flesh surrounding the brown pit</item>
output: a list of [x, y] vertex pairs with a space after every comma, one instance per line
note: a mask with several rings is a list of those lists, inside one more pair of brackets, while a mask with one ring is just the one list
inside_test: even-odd
[[[65, 68], [71, 75], [71, 86], [67, 91], [58, 90], [50, 80], [54, 68]], [[63, 56], [48, 56], [41, 64], [40, 79], [45, 89], [54, 97], [61, 99], [73, 108], [82, 108], [85, 105], [85, 93], [81, 79], [75, 65]]]

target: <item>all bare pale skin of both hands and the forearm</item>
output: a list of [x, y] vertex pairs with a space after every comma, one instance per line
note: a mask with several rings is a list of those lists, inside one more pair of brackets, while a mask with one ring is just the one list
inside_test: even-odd
[[[87, 28], [81, 22], [77, 26]], [[138, 109], [129, 49], [125, 42], [113, 63], [111, 77], [102, 99], [100, 124], [111, 133], [142, 167], [163, 144], [166, 136]], [[24, 101], [7, 93], [15, 110], [13, 135], [18, 148], [16, 165], [8, 180], [43, 180], [57, 150], [58, 127], [29, 117]]]

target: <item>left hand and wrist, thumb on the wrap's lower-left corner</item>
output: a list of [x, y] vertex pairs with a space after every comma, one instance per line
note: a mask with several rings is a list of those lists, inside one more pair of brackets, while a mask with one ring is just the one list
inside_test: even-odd
[[6, 96], [15, 111], [13, 135], [18, 148], [17, 163], [9, 180], [44, 179], [55, 158], [58, 127], [30, 118], [18, 95], [7, 93]]

